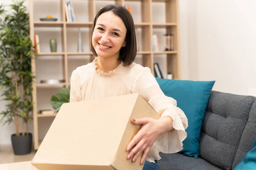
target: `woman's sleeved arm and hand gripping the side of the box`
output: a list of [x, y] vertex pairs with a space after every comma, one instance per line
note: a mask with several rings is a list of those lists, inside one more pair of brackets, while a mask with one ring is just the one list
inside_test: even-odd
[[143, 128], [128, 144], [128, 159], [136, 160], [140, 153], [144, 152], [141, 163], [144, 162], [153, 144], [163, 153], [177, 153], [182, 150], [182, 142], [187, 136], [186, 115], [177, 107], [175, 99], [163, 93], [149, 68], [143, 68], [134, 81], [133, 93], [142, 95], [160, 115], [160, 119], [143, 118], [132, 121], [134, 124], [143, 124]]

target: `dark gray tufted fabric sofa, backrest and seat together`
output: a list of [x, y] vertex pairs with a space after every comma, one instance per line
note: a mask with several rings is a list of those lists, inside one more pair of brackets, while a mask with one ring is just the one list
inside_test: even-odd
[[212, 91], [200, 138], [200, 157], [160, 153], [161, 170], [232, 170], [253, 148], [256, 97]]

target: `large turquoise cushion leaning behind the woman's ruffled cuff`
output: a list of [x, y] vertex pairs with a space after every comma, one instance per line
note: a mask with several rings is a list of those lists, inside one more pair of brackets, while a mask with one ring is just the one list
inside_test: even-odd
[[183, 141], [183, 150], [179, 153], [198, 158], [201, 126], [215, 81], [160, 79], [157, 77], [155, 79], [163, 93], [174, 98], [177, 101], [177, 107], [188, 118], [187, 138]]

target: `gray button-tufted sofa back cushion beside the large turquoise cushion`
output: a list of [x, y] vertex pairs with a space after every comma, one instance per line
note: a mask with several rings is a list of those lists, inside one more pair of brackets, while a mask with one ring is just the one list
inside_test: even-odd
[[[212, 91], [200, 140], [200, 155], [203, 159], [221, 169], [230, 170], [235, 157], [243, 156], [238, 148], [242, 135], [248, 139], [245, 127], [256, 129], [255, 125], [247, 124], [254, 101], [252, 96]], [[241, 148], [246, 146], [242, 139]]]

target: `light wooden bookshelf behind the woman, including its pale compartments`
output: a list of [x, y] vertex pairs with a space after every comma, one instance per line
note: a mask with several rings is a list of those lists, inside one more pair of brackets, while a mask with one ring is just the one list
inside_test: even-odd
[[[65, 4], [70, 1], [74, 5], [76, 22], [66, 21]], [[94, 56], [89, 49], [90, 30], [97, 11], [107, 4], [132, 6], [135, 28], [138, 30], [137, 37], [140, 40], [137, 51], [139, 64], [149, 67], [154, 74], [155, 59], [157, 56], [163, 56], [164, 61], [160, 65], [165, 68], [164, 77], [166, 78], [167, 72], [171, 71], [174, 79], [180, 79], [178, 0], [29, 0], [30, 38], [34, 43], [34, 36], [38, 34], [41, 44], [41, 52], [31, 62], [32, 72], [35, 76], [33, 82], [35, 150], [40, 146], [39, 136], [44, 136], [47, 132], [41, 128], [50, 125], [49, 121], [56, 116], [56, 113], [52, 115], [39, 114], [39, 110], [49, 109], [51, 96], [60, 88], [70, 87], [71, 73], [76, 67], [93, 61]], [[164, 10], [163, 8], [158, 9], [158, 4]], [[53, 17], [57, 18], [57, 21], [39, 20], [39, 18], [50, 14], [50, 11], [55, 12]], [[164, 16], [157, 11], [164, 11]], [[158, 15], [164, 19], [164, 22], [157, 19]], [[86, 42], [86, 45], [83, 44], [83, 52], [77, 52], [76, 48], [78, 28], [81, 28], [81, 37]], [[163, 41], [166, 39], [163, 32], [172, 34], [174, 37], [172, 51], [164, 51], [166, 42]], [[159, 51], [153, 50], [153, 34], [157, 34], [159, 42], [161, 42]], [[50, 51], [49, 39], [51, 37], [57, 38], [57, 52]], [[64, 79], [64, 82], [47, 84], [40, 83], [40, 79]], [[44, 96], [45, 93], [48, 93], [49, 96]], [[46, 118], [49, 119], [44, 120]], [[39, 121], [42, 121], [41, 125], [39, 125]], [[41, 131], [44, 131], [44, 134], [40, 134]]]

